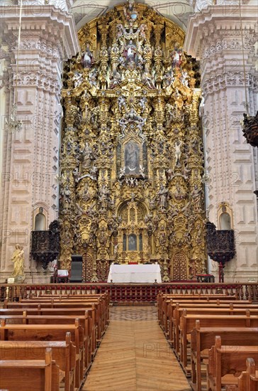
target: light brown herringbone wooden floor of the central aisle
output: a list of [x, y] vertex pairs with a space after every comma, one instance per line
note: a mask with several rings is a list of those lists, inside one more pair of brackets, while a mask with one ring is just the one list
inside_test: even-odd
[[82, 390], [191, 391], [157, 323], [156, 307], [111, 307], [110, 314]]

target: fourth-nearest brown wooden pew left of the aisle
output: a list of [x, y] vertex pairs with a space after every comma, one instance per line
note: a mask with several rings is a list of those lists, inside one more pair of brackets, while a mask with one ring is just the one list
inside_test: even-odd
[[6, 324], [74, 324], [75, 320], [84, 330], [84, 373], [89, 370], [91, 365], [91, 334], [89, 330], [88, 311], [84, 315], [28, 315], [27, 311], [18, 315], [1, 315], [0, 320], [4, 319]]

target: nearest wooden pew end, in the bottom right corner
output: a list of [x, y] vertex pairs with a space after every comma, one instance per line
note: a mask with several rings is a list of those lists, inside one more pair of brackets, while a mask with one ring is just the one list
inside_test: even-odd
[[253, 358], [247, 358], [247, 369], [238, 377], [238, 391], [258, 391], [258, 367]]

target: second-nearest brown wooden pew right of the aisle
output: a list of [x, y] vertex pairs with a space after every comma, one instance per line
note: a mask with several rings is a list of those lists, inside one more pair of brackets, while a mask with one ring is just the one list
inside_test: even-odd
[[237, 376], [246, 369], [247, 358], [258, 360], [258, 346], [222, 346], [220, 336], [208, 353], [208, 391], [237, 385]]

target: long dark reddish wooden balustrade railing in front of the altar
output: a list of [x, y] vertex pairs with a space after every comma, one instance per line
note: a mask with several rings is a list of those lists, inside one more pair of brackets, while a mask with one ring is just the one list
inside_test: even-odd
[[258, 301], [258, 283], [162, 283], [162, 284], [0, 284], [0, 301], [18, 301], [42, 294], [86, 294], [108, 291], [113, 302], [157, 301], [157, 294], [226, 294]]

